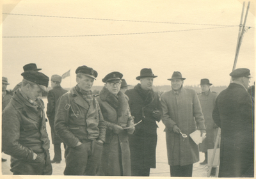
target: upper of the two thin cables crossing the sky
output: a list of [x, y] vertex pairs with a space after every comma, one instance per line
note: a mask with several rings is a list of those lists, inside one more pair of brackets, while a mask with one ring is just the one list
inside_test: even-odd
[[186, 25], [200, 25], [200, 26], [230, 26], [230, 25], [219, 25], [219, 24], [193, 24], [193, 23], [180, 23], [180, 22], [157, 22], [147, 20], [122, 20], [122, 19], [97, 19], [97, 18], [86, 18], [86, 17], [63, 17], [53, 15], [31, 15], [31, 14], [20, 14], [20, 13], [3, 13], [6, 15], [26, 15], [36, 17], [54, 17], [54, 18], [66, 18], [66, 19], [87, 19], [87, 20], [112, 20], [112, 21], [123, 21], [123, 22], [145, 22], [145, 23], [163, 23], [163, 24], [186, 24]]

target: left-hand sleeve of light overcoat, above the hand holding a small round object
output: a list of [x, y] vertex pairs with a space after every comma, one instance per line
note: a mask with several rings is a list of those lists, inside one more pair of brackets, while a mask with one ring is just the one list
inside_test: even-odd
[[169, 109], [166, 100], [167, 99], [164, 97], [164, 95], [162, 95], [160, 100], [161, 109], [163, 111], [162, 121], [166, 128], [172, 130], [173, 126], [176, 125], [176, 123], [172, 120], [171, 116], [169, 115]]

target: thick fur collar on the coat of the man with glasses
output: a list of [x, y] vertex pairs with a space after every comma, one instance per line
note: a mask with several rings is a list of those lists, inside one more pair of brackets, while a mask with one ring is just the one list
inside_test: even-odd
[[106, 87], [103, 87], [100, 91], [100, 99], [108, 102], [111, 107], [113, 107], [118, 115], [118, 117], [122, 116], [125, 113], [125, 95], [121, 91], [117, 93], [117, 95], [113, 95], [109, 92]]

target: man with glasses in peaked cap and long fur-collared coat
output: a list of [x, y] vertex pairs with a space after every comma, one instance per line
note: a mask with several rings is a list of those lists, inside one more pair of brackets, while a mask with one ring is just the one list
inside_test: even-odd
[[127, 96], [120, 91], [122, 74], [111, 72], [102, 82], [97, 100], [106, 121], [106, 142], [103, 145], [100, 175], [131, 176], [129, 136], [135, 130]]

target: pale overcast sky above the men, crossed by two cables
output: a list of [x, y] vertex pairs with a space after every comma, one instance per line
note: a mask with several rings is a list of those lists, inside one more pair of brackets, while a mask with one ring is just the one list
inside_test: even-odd
[[[102, 78], [113, 71], [121, 72], [128, 84], [135, 85], [141, 68], [152, 68], [158, 76], [154, 85], [170, 84], [167, 79], [172, 77], [173, 71], [182, 73], [186, 78], [185, 85], [200, 84], [202, 78], [210, 79], [214, 86], [229, 84], [243, 7], [240, 1], [23, 0], [15, 6], [10, 2], [3, 5], [3, 13], [22, 15], [3, 14], [3, 76], [8, 77], [8, 89], [22, 80], [22, 66], [28, 63], [36, 63], [43, 69], [40, 72], [49, 77], [62, 75], [71, 69], [71, 77], [62, 82], [65, 88], [70, 87], [70, 79], [72, 86], [76, 84], [75, 70], [81, 65], [90, 66], [98, 72], [94, 82], [97, 86], [103, 85]], [[251, 2], [246, 22], [246, 26], [252, 28], [244, 35], [237, 62], [237, 68], [250, 68], [253, 77], [254, 5]], [[247, 3], [244, 14], [246, 7]], [[201, 30], [184, 31], [188, 29]], [[175, 32], [148, 33], [162, 31]], [[111, 35], [125, 33], [147, 34]], [[22, 38], [6, 38], [10, 36]], [[255, 78], [251, 85], [253, 81]]]

